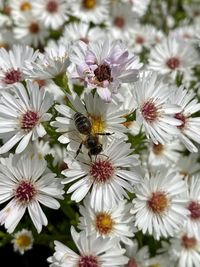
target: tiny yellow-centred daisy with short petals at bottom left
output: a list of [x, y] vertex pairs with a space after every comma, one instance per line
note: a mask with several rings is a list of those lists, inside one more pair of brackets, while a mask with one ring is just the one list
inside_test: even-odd
[[14, 251], [19, 251], [19, 253], [23, 255], [24, 252], [32, 249], [33, 241], [32, 232], [22, 229], [14, 234], [14, 238], [11, 242], [14, 245]]

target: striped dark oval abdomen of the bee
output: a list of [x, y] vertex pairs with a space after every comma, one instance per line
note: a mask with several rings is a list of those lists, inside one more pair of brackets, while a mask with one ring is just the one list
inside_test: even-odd
[[83, 114], [76, 112], [74, 114], [74, 123], [77, 130], [81, 134], [89, 134], [92, 130], [92, 125], [90, 120]]

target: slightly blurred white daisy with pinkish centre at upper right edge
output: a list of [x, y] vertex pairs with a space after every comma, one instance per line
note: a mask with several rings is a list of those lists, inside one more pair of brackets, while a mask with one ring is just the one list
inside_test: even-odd
[[191, 44], [168, 37], [151, 50], [148, 67], [161, 74], [172, 74], [172, 77], [175, 77], [177, 71], [187, 72], [198, 62], [199, 55]]

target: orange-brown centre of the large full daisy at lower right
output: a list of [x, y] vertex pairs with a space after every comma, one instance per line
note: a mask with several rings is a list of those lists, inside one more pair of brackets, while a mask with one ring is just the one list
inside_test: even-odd
[[147, 201], [150, 210], [156, 214], [163, 213], [168, 206], [168, 199], [163, 192], [154, 192]]

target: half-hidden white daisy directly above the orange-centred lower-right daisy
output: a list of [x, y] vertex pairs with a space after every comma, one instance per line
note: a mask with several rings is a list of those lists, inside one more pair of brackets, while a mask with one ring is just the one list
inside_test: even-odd
[[183, 151], [183, 146], [180, 144], [179, 140], [172, 140], [166, 144], [149, 144], [149, 155], [148, 162], [153, 166], [165, 165], [169, 166], [176, 163], [179, 158], [182, 160], [181, 152]]

